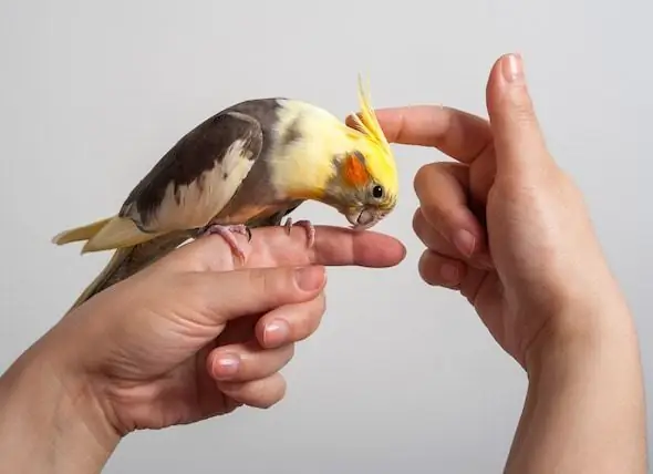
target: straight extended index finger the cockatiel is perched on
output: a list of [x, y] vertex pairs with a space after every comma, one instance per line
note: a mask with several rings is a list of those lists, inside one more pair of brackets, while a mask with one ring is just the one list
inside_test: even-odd
[[[405, 255], [404, 245], [394, 237], [370, 230], [315, 226], [315, 239], [309, 247], [305, 229], [282, 226], [251, 230], [251, 241], [236, 239], [247, 257], [246, 267], [277, 266], [359, 266], [393, 267]], [[206, 236], [173, 253], [168, 265], [187, 271], [225, 271], [241, 267], [229, 246], [219, 236]]]

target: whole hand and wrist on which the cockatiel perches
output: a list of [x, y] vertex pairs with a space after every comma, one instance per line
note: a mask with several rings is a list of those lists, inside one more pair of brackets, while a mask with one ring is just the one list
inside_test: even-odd
[[[122, 437], [279, 402], [324, 311], [325, 266], [390, 267], [396, 239], [317, 227], [205, 236], [68, 313], [0, 380], [11, 472], [100, 472]], [[74, 343], [71, 343], [74, 341]]]

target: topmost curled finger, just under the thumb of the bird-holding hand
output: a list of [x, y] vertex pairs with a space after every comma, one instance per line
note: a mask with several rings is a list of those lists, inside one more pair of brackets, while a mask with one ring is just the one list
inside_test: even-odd
[[257, 340], [267, 349], [301, 341], [318, 329], [325, 308], [321, 292], [311, 301], [273, 309], [259, 319], [255, 329]]

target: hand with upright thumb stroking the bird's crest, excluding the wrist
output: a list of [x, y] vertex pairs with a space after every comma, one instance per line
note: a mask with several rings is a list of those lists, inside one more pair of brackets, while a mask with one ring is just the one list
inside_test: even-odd
[[459, 290], [526, 365], [538, 336], [584, 331], [595, 320], [581, 313], [622, 301], [581, 194], [547, 151], [519, 58], [493, 68], [487, 106], [489, 123], [440, 106], [376, 113], [391, 142], [458, 162], [415, 177], [414, 229], [427, 247], [419, 272]]

